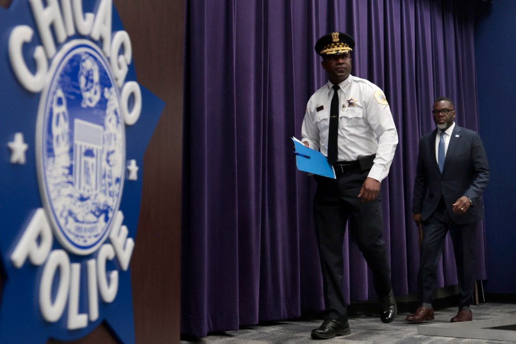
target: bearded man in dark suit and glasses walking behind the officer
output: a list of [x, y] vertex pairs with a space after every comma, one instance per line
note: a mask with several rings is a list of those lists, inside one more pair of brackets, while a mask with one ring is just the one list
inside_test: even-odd
[[489, 181], [489, 166], [480, 136], [455, 124], [450, 99], [438, 98], [432, 113], [437, 129], [420, 139], [412, 202], [413, 219], [422, 224], [424, 234], [417, 276], [422, 305], [406, 319], [416, 323], [433, 319], [437, 265], [449, 230], [460, 291], [459, 312], [450, 322], [471, 321], [475, 234], [483, 217], [481, 195]]

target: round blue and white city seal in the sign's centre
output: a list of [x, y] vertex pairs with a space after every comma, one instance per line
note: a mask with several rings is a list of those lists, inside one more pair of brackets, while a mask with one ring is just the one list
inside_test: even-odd
[[59, 242], [78, 255], [107, 238], [124, 182], [125, 128], [110, 65], [88, 40], [59, 51], [39, 105], [36, 160]]

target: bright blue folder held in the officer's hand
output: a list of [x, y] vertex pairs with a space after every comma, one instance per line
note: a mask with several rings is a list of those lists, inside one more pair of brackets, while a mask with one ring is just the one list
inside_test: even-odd
[[296, 150], [297, 169], [314, 175], [335, 179], [335, 170], [328, 159], [319, 151], [308, 148], [300, 140], [292, 137]]

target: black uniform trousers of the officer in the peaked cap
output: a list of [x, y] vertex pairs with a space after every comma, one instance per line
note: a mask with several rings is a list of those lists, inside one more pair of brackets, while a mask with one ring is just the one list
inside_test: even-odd
[[347, 319], [342, 291], [344, 259], [342, 246], [349, 218], [351, 241], [356, 243], [373, 272], [376, 293], [382, 297], [392, 290], [391, 270], [382, 237], [380, 194], [372, 202], [357, 196], [368, 170], [348, 171], [337, 179], [316, 176], [314, 218], [322, 271], [325, 307], [332, 319]]

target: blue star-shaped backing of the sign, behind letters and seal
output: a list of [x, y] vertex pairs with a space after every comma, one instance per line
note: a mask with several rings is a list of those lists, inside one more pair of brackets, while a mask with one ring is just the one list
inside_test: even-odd
[[[100, 1], [84, 1], [84, 12], [96, 12]], [[131, 286], [131, 265], [127, 271], [120, 270], [116, 258], [108, 261], [107, 271], [118, 270], [119, 287], [116, 299], [106, 304], [99, 295], [99, 319], [80, 330], [67, 330], [68, 306], [63, 316], [55, 323], [46, 322], [39, 309], [39, 284], [44, 264], [36, 267], [28, 260], [22, 268], [16, 269], [10, 260], [14, 247], [37, 208], [42, 208], [36, 173], [36, 121], [41, 93], [31, 93], [23, 88], [15, 77], [8, 55], [8, 42], [12, 29], [18, 25], [28, 25], [35, 34], [30, 43], [24, 45], [25, 61], [35, 71], [32, 55], [37, 45], [41, 45], [39, 33], [27, 0], [14, 0], [9, 9], [0, 8], [0, 104], [2, 104], [2, 125], [0, 125], [0, 254], [2, 257], [2, 301], [0, 303], [0, 342], [45, 342], [47, 338], [74, 340], [90, 333], [101, 322], [105, 321], [114, 334], [126, 343], [135, 341], [133, 303]], [[112, 32], [123, 30], [118, 12], [113, 7]], [[73, 39], [89, 39], [75, 35], [62, 44], [56, 41], [56, 48]], [[98, 43], [98, 42], [97, 42]], [[138, 47], [133, 46], [133, 50]], [[49, 61], [49, 66], [52, 61]], [[134, 61], [129, 66], [127, 81], [136, 81]], [[120, 210], [124, 214], [123, 225], [127, 226], [128, 236], [136, 240], [136, 229], [140, 212], [140, 199], [143, 180], [143, 154], [150, 141], [164, 103], [149, 90], [140, 85], [142, 93], [142, 112], [133, 126], [125, 127], [126, 160], [135, 159], [139, 167], [138, 180], [125, 180]], [[28, 144], [26, 163], [11, 164], [11, 150], [8, 142], [12, 142], [14, 134], [22, 132]], [[54, 236], [52, 249], [62, 249]], [[106, 243], [109, 239], [106, 241]], [[79, 313], [87, 313], [87, 275], [86, 261], [94, 258], [96, 252], [88, 256], [77, 256], [68, 253], [71, 262], [82, 264], [80, 276]], [[149, 253], [152, 254], [152, 253]]]

